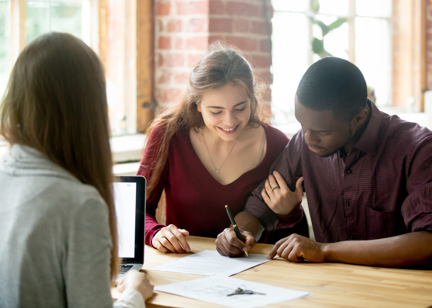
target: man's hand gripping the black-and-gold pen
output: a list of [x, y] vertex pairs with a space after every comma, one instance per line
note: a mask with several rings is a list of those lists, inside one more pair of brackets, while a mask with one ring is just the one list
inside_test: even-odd
[[219, 233], [216, 239], [216, 250], [220, 255], [227, 257], [238, 257], [250, 250], [257, 243], [252, 233], [239, 229], [241, 237], [245, 241], [242, 243], [235, 234], [233, 228], [226, 228]]

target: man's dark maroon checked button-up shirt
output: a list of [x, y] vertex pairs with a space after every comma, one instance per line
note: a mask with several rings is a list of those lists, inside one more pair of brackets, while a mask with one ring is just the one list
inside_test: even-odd
[[[432, 132], [381, 112], [372, 115], [349, 154], [320, 157], [300, 130], [273, 163], [291, 190], [304, 176], [317, 242], [370, 240], [421, 230], [432, 231]], [[261, 198], [262, 182], [245, 211], [267, 230], [280, 220]]]

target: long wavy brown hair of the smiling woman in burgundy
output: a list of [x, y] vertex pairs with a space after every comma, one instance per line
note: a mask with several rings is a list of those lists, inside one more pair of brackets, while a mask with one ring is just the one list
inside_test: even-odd
[[152, 142], [156, 144], [146, 146], [146, 149], [156, 149], [154, 153], [146, 151], [143, 161], [143, 167], [149, 170], [147, 198], [150, 198], [151, 192], [159, 182], [172, 136], [178, 131], [189, 132], [191, 128], [202, 128], [205, 124], [197, 110], [197, 104], [201, 102], [204, 94], [227, 84], [244, 87], [251, 99], [249, 127], [258, 127], [267, 120], [268, 114], [264, 112], [263, 101], [265, 85], [257, 78], [248, 60], [236, 47], [221, 42], [210, 45], [209, 52], [192, 70], [187, 91], [181, 101], [162, 111], [147, 129], [147, 138], [155, 128], [164, 131], [160, 140], [152, 138]]

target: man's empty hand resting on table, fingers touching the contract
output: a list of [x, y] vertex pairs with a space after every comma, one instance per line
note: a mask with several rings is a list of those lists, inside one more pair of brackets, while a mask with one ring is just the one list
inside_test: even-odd
[[267, 259], [271, 260], [277, 254], [291, 262], [301, 262], [303, 260], [325, 262], [323, 251], [325, 245], [298, 234], [291, 234], [276, 242]]

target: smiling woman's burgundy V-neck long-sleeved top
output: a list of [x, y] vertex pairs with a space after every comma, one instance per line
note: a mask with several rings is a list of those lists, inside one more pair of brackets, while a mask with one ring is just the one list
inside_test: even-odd
[[[226, 214], [227, 204], [233, 215], [243, 211], [248, 197], [260, 182], [267, 178], [272, 163], [283, 151], [288, 138], [278, 129], [264, 125], [267, 150], [263, 161], [254, 169], [242, 174], [228, 185], [222, 185], [201, 163], [189, 139], [189, 132], [178, 132], [171, 139], [168, 160], [146, 203], [145, 241], [151, 245], [153, 235], [164, 225], [156, 221], [155, 213], [162, 191], [166, 195], [166, 223], [186, 229], [191, 235], [217, 237], [230, 225]], [[158, 153], [152, 140], [161, 138], [163, 129], [153, 129], [137, 175], [151, 178], [151, 170], [145, 167], [150, 155]], [[294, 220], [302, 218], [302, 210], [293, 213]], [[292, 216], [291, 215], [291, 216]], [[306, 220], [304, 219], [307, 227]]]

